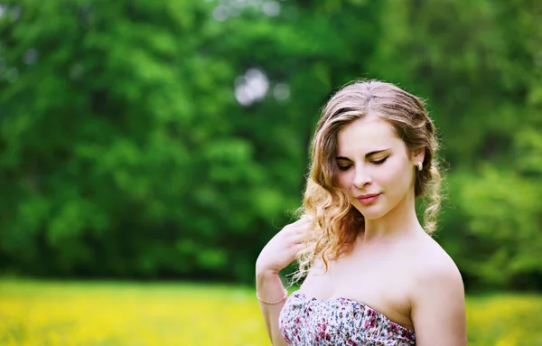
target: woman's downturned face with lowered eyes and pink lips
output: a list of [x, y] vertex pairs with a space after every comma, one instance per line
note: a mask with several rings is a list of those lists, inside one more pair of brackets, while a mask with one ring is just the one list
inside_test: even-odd
[[337, 144], [341, 189], [366, 219], [379, 219], [414, 198], [415, 164], [424, 162], [424, 151], [409, 154], [388, 122], [379, 117], [353, 121], [338, 133]]

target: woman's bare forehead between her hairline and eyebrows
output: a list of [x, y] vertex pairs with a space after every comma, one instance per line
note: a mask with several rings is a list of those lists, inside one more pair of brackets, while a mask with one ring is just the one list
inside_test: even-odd
[[337, 134], [337, 154], [349, 156], [375, 150], [404, 148], [395, 129], [380, 117], [363, 117], [341, 128]]

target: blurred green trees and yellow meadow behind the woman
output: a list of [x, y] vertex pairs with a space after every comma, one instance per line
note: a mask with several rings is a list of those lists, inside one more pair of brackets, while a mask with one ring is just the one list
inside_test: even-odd
[[0, 345], [266, 345], [254, 264], [353, 79], [424, 98], [470, 345], [542, 345], [542, 3], [0, 2]]

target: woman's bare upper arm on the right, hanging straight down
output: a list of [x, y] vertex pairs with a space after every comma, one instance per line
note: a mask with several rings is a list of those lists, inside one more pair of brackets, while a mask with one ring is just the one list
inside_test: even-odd
[[450, 262], [434, 264], [416, 282], [411, 317], [417, 346], [466, 346], [463, 279]]

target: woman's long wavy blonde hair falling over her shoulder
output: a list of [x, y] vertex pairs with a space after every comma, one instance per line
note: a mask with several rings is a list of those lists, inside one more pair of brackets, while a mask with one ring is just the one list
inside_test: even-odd
[[[359, 80], [332, 96], [318, 122], [312, 145], [312, 164], [304, 192], [302, 218], [312, 220], [312, 237], [297, 257], [299, 269], [294, 282], [303, 278], [317, 257], [325, 270], [328, 261], [350, 250], [365, 220], [350, 203], [338, 184], [336, 164], [337, 134], [356, 119], [374, 115], [394, 127], [406, 148], [425, 149], [424, 169], [416, 171], [415, 196], [425, 198], [424, 229], [432, 233], [440, 207], [441, 174], [435, 159], [438, 141], [435, 125], [424, 102], [397, 86], [378, 80]], [[414, 169], [414, 167], [413, 167]]]

